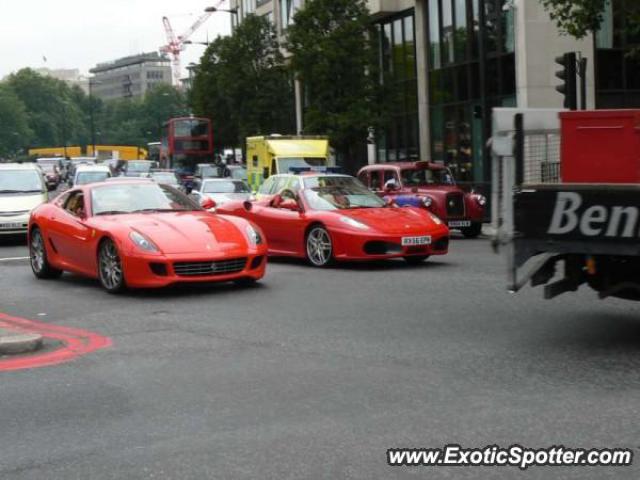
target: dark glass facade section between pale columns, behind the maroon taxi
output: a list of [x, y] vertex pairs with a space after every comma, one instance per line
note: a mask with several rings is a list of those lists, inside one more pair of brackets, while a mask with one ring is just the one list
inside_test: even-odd
[[431, 156], [460, 182], [481, 184], [483, 114], [516, 105], [513, 9], [509, 0], [428, 0], [427, 15]]

